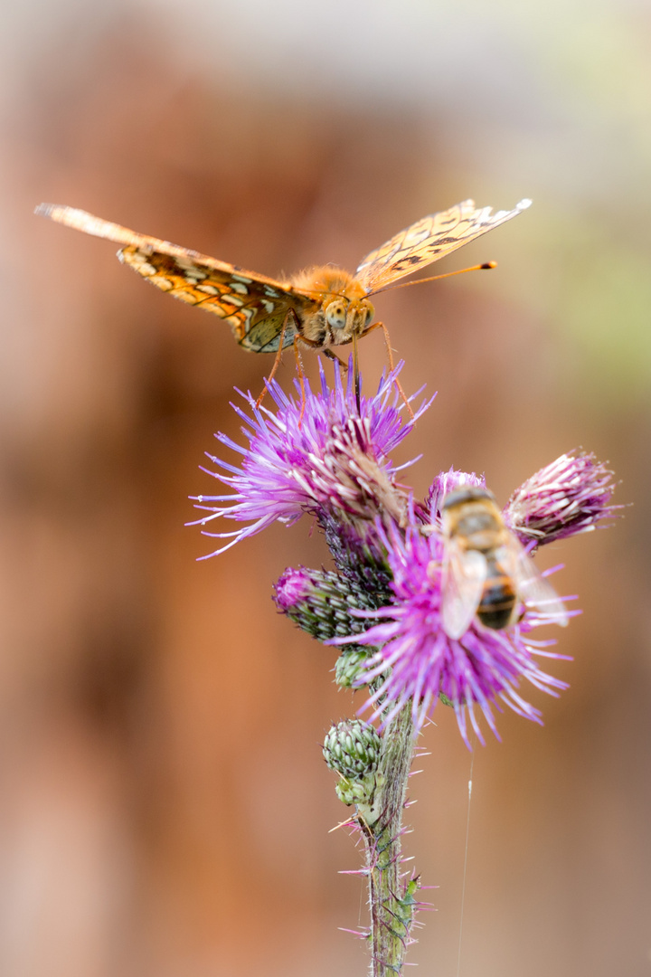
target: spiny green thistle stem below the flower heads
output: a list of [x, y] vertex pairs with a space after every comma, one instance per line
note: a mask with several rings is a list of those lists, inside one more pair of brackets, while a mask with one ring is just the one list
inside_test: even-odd
[[400, 877], [400, 839], [407, 778], [414, 753], [411, 700], [387, 727], [379, 767], [379, 790], [373, 808], [379, 817], [360, 826], [366, 841], [371, 910], [370, 977], [395, 977], [411, 942], [411, 927], [418, 883]]

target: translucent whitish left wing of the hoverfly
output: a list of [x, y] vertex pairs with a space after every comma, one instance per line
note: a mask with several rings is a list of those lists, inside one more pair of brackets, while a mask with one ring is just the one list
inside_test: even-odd
[[462, 550], [449, 542], [443, 561], [441, 616], [449, 638], [461, 638], [475, 616], [488, 573], [486, 558], [477, 550]]

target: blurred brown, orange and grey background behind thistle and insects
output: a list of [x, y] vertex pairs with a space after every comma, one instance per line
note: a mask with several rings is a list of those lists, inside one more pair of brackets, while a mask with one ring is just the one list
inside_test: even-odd
[[[270, 362], [144, 286], [84, 207], [268, 275], [353, 269], [468, 196], [525, 215], [378, 301], [435, 404], [400, 460], [502, 501], [575, 446], [632, 502], [544, 556], [584, 615], [546, 726], [474, 754], [461, 974], [651, 972], [651, 6], [644, 0], [24, 0], [0, 27], [0, 972], [353, 977], [359, 854], [318, 743], [333, 652], [270, 601], [309, 526], [223, 556], [187, 495]], [[309, 361], [309, 358], [305, 358]], [[385, 363], [362, 346], [367, 383]], [[308, 362], [315, 370], [315, 361]], [[293, 379], [292, 358], [281, 370]], [[226, 527], [228, 528], [228, 527]], [[407, 854], [453, 975], [471, 759], [436, 712]]]

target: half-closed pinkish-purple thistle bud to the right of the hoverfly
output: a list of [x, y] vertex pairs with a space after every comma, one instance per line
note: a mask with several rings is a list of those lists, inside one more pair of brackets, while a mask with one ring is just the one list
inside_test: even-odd
[[536, 545], [595, 530], [621, 508], [610, 504], [612, 475], [593, 454], [561, 454], [516, 488], [507, 523], [521, 542]]

